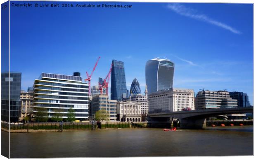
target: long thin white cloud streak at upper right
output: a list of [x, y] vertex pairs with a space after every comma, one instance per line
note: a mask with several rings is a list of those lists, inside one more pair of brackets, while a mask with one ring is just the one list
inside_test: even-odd
[[174, 4], [168, 4], [167, 5], [168, 8], [170, 8], [171, 10], [173, 10], [174, 12], [182, 15], [182, 16], [187, 16], [193, 19], [198, 19], [201, 21], [205, 21], [207, 23], [211, 23], [215, 26], [218, 26], [220, 28], [226, 29], [226, 30], [230, 30], [232, 33], [235, 34], [242, 34], [239, 30], [236, 30], [235, 28], [232, 28], [231, 26], [228, 26], [225, 23], [221, 23], [219, 21], [213, 20], [211, 18], [209, 18], [208, 16], [204, 15], [204, 14], [196, 14], [196, 10], [191, 9], [191, 8], [187, 8], [183, 5], [179, 5], [177, 3]]

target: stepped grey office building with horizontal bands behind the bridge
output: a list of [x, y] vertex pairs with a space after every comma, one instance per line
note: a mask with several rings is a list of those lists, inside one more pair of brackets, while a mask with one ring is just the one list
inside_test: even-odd
[[195, 101], [196, 109], [237, 108], [237, 100], [228, 91], [199, 91]]

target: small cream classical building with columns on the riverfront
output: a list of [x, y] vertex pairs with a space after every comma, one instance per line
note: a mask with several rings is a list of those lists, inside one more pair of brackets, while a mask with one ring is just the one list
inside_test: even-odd
[[118, 101], [116, 103], [117, 120], [120, 122], [141, 122], [141, 103]]

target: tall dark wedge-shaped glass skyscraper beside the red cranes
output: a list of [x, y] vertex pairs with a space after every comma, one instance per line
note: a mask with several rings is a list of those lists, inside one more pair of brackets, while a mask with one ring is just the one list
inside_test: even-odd
[[123, 61], [113, 60], [111, 70], [111, 100], [122, 101], [124, 93], [127, 98], [124, 64]]

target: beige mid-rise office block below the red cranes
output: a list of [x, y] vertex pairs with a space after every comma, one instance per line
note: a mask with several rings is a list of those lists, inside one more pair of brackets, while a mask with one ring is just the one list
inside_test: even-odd
[[116, 121], [116, 100], [110, 100], [107, 95], [96, 95], [92, 96], [90, 104], [92, 118], [98, 110], [106, 110], [109, 113], [109, 120]]

